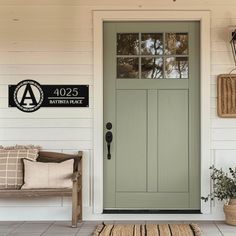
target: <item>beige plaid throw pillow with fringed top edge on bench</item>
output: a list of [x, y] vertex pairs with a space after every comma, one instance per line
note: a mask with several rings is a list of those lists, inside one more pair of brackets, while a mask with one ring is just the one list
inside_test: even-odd
[[23, 185], [23, 161], [36, 161], [38, 149], [0, 149], [0, 189], [19, 189]]

